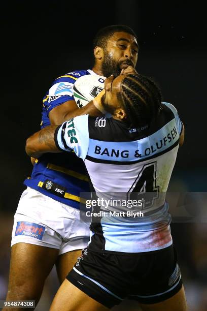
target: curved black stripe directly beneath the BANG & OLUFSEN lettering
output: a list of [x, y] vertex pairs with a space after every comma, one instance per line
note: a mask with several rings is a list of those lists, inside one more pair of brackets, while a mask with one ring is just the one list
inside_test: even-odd
[[169, 148], [167, 148], [167, 149], [165, 149], [165, 150], [163, 150], [163, 151], [161, 151], [161, 152], [152, 154], [150, 157], [144, 157], [142, 160], [136, 160], [136, 161], [101, 160], [101, 159], [97, 159], [97, 158], [90, 157], [90, 155], [87, 155], [87, 156], [86, 156], [86, 159], [89, 160], [89, 161], [91, 161], [91, 162], [94, 162], [94, 163], [117, 164], [117, 165], [130, 165], [130, 164], [139, 163], [139, 162], [143, 162], [143, 161], [147, 161], [147, 160], [151, 160], [151, 159], [157, 158], [157, 157], [159, 157], [159, 155], [162, 155], [162, 154], [164, 154], [164, 153], [170, 151], [171, 149], [175, 148], [178, 144], [179, 144], [179, 139], [175, 142], [175, 144], [171, 145]]

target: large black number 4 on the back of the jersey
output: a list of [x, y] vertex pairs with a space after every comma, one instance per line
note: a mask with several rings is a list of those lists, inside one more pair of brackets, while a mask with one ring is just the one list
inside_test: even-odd
[[127, 193], [129, 200], [143, 199], [142, 209], [152, 207], [158, 198], [159, 186], [156, 185], [157, 162], [145, 164]]

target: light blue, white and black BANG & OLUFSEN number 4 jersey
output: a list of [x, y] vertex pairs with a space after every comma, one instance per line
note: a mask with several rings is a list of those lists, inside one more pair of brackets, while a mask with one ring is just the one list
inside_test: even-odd
[[[88, 115], [75, 117], [57, 128], [57, 147], [74, 150], [83, 159], [97, 197], [118, 199], [123, 194], [128, 198], [133, 193], [152, 194], [152, 200], [142, 205], [144, 216], [112, 214], [114, 221], [112, 216], [109, 222], [103, 214], [99, 223], [91, 223], [91, 250], [139, 253], [172, 243], [165, 196], [156, 199], [159, 193], [167, 191], [181, 132], [182, 122], [169, 103], [161, 104], [158, 118], [150, 128], [146, 125], [129, 129], [123, 121]], [[158, 203], [154, 204], [155, 201]], [[119, 207], [108, 203], [112, 212]]]

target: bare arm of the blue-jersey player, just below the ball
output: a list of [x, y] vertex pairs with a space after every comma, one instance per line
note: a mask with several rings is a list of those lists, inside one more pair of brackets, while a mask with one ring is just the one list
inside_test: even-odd
[[64, 121], [67, 121], [70, 117], [72, 117], [72, 114], [74, 114], [74, 112], [78, 109], [79, 108], [74, 100], [64, 102], [61, 105], [54, 107], [49, 112], [51, 124], [62, 124]]

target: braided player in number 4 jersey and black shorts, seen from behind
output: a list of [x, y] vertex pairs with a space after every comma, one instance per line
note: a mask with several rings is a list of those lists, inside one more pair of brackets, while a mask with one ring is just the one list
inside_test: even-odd
[[137, 300], [144, 311], [186, 311], [165, 202], [184, 140], [178, 112], [161, 102], [152, 80], [134, 74], [106, 79], [93, 104], [112, 114], [104, 126], [98, 126], [99, 118], [82, 115], [47, 127], [27, 140], [27, 154], [38, 158], [73, 150], [84, 161], [98, 198], [107, 199], [110, 193], [115, 199], [124, 193], [129, 198], [152, 196], [134, 209], [142, 217], [110, 216], [111, 210], [122, 208], [113, 203], [106, 215], [105, 201], [96, 204], [93, 211], [103, 213], [92, 217], [89, 245], [60, 286], [51, 311], [107, 310], [126, 297]]

